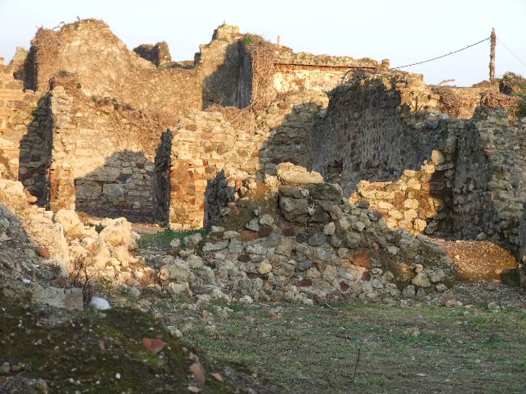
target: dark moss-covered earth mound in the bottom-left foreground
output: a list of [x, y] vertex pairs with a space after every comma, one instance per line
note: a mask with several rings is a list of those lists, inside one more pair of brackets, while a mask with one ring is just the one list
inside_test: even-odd
[[[279, 391], [184, 346], [163, 322], [135, 309], [73, 313], [5, 296], [0, 305], [0, 392]], [[166, 347], [153, 354], [144, 338]]]

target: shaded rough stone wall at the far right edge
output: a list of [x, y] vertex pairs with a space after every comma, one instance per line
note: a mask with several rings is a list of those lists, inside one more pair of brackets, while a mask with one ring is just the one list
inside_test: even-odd
[[524, 188], [524, 120], [510, 127], [503, 110], [480, 109], [458, 138], [454, 231], [519, 244]]

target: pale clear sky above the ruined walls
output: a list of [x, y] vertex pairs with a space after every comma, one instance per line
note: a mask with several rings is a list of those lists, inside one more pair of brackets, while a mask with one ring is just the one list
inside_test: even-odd
[[[37, 27], [53, 28], [76, 18], [98, 18], [132, 49], [165, 40], [173, 60], [190, 60], [225, 20], [295, 51], [388, 58], [402, 66], [497, 37], [526, 63], [526, 0], [0, 0], [0, 57], [28, 48]], [[430, 63], [404, 68], [426, 82], [455, 78], [470, 86], [488, 79], [489, 42]], [[496, 74], [522, 65], [497, 43]]]

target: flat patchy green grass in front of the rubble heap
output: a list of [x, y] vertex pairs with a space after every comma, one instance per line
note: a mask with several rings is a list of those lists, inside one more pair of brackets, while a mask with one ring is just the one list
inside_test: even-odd
[[526, 313], [519, 309], [232, 308], [214, 318], [215, 331], [193, 324], [185, 340], [291, 392], [526, 393]]

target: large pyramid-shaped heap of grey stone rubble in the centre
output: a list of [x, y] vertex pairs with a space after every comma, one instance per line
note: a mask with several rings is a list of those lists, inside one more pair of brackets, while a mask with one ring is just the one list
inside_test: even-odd
[[[455, 275], [442, 247], [390, 230], [377, 213], [343, 201], [341, 188], [320, 174], [284, 163], [277, 178], [241, 189], [205, 239], [189, 236], [161, 268], [174, 298], [214, 298], [216, 286], [246, 303], [423, 297], [444, 291]], [[205, 277], [203, 263], [215, 275]]]

